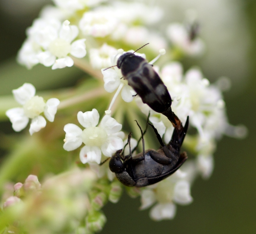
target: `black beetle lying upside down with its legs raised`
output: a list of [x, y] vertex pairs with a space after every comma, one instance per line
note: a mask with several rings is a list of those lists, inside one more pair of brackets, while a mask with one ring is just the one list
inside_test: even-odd
[[[178, 117], [177, 117], [178, 118]], [[137, 121], [136, 121], [137, 122]], [[141, 131], [142, 152], [132, 156], [130, 145], [131, 133], [128, 136], [130, 153], [124, 156], [124, 151], [117, 151], [109, 162], [109, 168], [116, 174], [117, 179], [126, 186], [144, 187], [155, 184], [173, 174], [187, 160], [187, 153], [180, 154], [180, 148], [188, 129], [189, 118], [183, 128], [181, 122], [178, 128], [174, 128], [170, 142], [165, 145], [156, 128], [149, 124], [155, 131], [161, 145], [157, 151], [148, 149], [145, 151], [144, 133]], [[122, 152], [123, 151], [123, 152]]]

